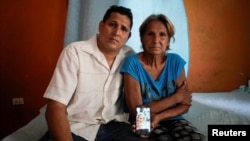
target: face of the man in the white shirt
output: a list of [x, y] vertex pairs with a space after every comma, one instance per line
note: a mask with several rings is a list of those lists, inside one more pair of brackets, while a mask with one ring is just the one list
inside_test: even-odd
[[110, 17], [99, 23], [98, 47], [102, 52], [118, 53], [130, 34], [130, 19], [120, 13], [111, 13]]

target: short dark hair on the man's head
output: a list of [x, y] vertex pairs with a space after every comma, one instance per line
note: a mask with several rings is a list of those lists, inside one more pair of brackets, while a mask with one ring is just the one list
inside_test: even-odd
[[105, 22], [111, 15], [111, 13], [120, 13], [122, 15], [126, 15], [130, 19], [130, 30], [132, 29], [133, 26], [133, 14], [129, 8], [123, 7], [123, 6], [117, 6], [117, 5], [112, 5], [110, 8], [106, 11], [105, 15], [103, 16], [102, 21]]

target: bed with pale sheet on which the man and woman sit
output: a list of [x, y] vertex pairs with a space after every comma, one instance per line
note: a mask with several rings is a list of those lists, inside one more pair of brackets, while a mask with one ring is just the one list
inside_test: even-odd
[[[232, 92], [193, 93], [192, 106], [184, 117], [207, 136], [209, 124], [250, 125], [250, 88]], [[40, 114], [2, 141], [38, 141], [47, 131], [45, 106]]]

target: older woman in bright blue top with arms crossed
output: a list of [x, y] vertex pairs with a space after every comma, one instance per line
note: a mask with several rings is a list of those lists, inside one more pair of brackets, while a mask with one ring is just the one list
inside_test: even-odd
[[127, 57], [121, 68], [130, 121], [135, 122], [136, 106], [146, 105], [151, 108], [152, 132], [140, 137], [204, 140], [204, 135], [182, 117], [192, 97], [185, 76], [186, 62], [177, 54], [167, 53], [174, 39], [174, 25], [165, 15], [153, 14], [139, 31], [143, 52]]

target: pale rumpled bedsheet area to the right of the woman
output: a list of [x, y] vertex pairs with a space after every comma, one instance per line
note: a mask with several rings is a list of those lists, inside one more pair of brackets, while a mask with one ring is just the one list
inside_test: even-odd
[[207, 136], [208, 125], [250, 124], [250, 94], [246, 92], [193, 93], [184, 115]]

